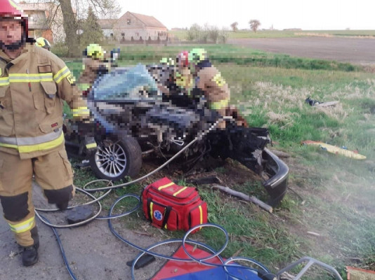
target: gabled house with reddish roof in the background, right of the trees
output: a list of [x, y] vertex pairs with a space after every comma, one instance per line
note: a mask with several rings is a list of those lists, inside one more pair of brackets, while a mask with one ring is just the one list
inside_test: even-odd
[[166, 41], [168, 29], [150, 15], [126, 12], [114, 23], [114, 36], [117, 41]]

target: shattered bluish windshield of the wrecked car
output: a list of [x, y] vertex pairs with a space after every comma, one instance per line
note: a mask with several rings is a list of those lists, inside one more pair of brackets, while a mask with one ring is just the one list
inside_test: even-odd
[[162, 99], [157, 83], [143, 64], [129, 69], [115, 69], [96, 80], [93, 87], [95, 100]]

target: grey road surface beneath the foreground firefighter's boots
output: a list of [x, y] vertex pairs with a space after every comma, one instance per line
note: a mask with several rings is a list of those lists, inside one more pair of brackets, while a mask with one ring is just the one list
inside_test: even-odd
[[[34, 186], [34, 202], [37, 207], [46, 207], [46, 200], [40, 188]], [[103, 215], [107, 211], [103, 211]], [[0, 215], [3, 213], [0, 207]], [[51, 215], [51, 214], [48, 214]], [[50, 216], [51, 217], [51, 216]], [[55, 221], [64, 220], [65, 214], [55, 214]], [[138, 246], [147, 247], [157, 240], [153, 237], [138, 235], [126, 230], [124, 223], [114, 221], [121, 236], [131, 240]], [[37, 219], [40, 248], [39, 262], [32, 267], [22, 267], [21, 249], [15, 244], [13, 233], [4, 219], [0, 218], [0, 279], [1, 280], [68, 280], [70, 275], [65, 268], [55, 235], [48, 226]], [[65, 253], [73, 273], [79, 280], [85, 279], [131, 279], [130, 267], [126, 265], [139, 251], [122, 243], [112, 235], [107, 221], [93, 221], [79, 228], [58, 230]], [[164, 253], [163, 251], [161, 253]], [[165, 252], [168, 253], [168, 252]], [[157, 272], [161, 262], [153, 262], [145, 270], [137, 272], [137, 279], [148, 279], [152, 272]], [[143, 270], [141, 272], [141, 270]]]

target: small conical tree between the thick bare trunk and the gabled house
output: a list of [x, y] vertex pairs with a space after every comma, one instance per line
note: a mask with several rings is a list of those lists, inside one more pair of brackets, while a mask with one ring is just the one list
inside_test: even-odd
[[98, 17], [93, 12], [93, 8], [89, 7], [87, 18], [82, 25], [84, 33], [81, 36], [81, 45], [90, 43], [101, 43], [103, 41], [103, 30], [100, 28]]

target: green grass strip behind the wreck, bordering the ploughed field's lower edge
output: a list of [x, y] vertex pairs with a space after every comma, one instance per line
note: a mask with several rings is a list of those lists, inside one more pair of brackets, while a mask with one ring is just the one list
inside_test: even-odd
[[[272, 54], [261, 50], [252, 50], [236, 45], [186, 45], [186, 46], [126, 46], [121, 48], [119, 65], [136, 63], [159, 62], [163, 57], [176, 57], [181, 49], [191, 50], [202, 47], [207, 50], [210, 59], [215, 64], [237, 64], [239, 66], [273, 67], [283, 69], [305, 69], [305, 70], [327, 70], [327, 71], [364, 71], [362, 66], [349, 63], [334, 62], [324, 59], [306, 59], [292, 57], [290, 55]], [[108, 49], [109, 50], [109, 49]], [[78, 77], [81, 72], [81, 62], [67, 60], [67, 66], [72, 69], [74, 76]], [[239, 76], [241, 77], [241, 76]], [[298, 76], [291, 76], [291, 80]]]

